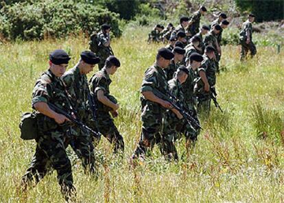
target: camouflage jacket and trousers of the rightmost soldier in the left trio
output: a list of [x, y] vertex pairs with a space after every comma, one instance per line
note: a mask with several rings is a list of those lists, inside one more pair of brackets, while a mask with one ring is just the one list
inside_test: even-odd
[[97, 110], [95, 112], [97, 126], [93, 126], [93, 129], [98, 130], [98, 132], [103, 134], [110, 143], [113, 143], [115, 145], [114, 152], [117, 153], [119, 150], [124, 150], [123, 137], [119, 134], [112, 117], [110, 117], [109, 111], [112, 109], [105, 106], [97, 99], [97, 92], [99, 90], [104, 91], [104, 95], [110, 99], [111, 95], [109, 86], [111, 82], [112, 81], [110, 80], [108, 73], [106, 73], [106, 68], [104, 67], [91, 77], [89, 87], [95, 104], [97, 104]]

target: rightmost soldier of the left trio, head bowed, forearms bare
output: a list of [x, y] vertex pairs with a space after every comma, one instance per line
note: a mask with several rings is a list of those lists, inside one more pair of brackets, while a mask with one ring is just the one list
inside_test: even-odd
[[[124, 141], [121, 134], [117, 130], [112, 117], [117, 117], [119, 104], [117, 99], [110, 95], [110, 75], [115, 74], [120, 67], [120, 62], [115, 56], [109, 56], [106, 59], [104, 68], [95, 73], [89, 81], [89, 87], [91, 95], [97, 104], [97, 110], [95, 112], [97, 118], [97, 126], [93, 126], [93, 129], [100, 132], [106, 137], [106, 139], [114, 144], [114, 153], [124, 151]], [[97, 128], [97, 129], [96, 129]]]

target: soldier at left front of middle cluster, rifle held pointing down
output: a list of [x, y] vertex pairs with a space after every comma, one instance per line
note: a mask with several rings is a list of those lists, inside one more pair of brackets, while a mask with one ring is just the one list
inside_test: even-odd
[[[180, 112], [175, 108], [172, 108], [168, 101], [155, 95], [155, 91], [167, 94], [167, 79], [163, 69], [166, 69], [169, 66], [171, 58], [174, 58], [174, 53], [171, 53], [169, 49], [159, 49], [156, 55], [156, 62], [145, 71], [145, 77], [143, 78], [141, 87], [142, 132], [137, 148], [132, 155], [132, 159], [143, 159], [147, 149], [152, 149], [155, 143], [161, 143], [161, 140], [163, 139], [161, 137], [162, 121], [166, 109], [171, 108], [177, 117], [182, 119]], [[161, 152], [163, 152], [162, 149]]]

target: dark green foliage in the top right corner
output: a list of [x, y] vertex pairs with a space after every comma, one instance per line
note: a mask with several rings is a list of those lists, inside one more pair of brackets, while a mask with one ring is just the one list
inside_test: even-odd
[[282, 0], [235, 0], [241, 11], [252, 12], [256, 15], [256, 21], [275, 21], [283, 19], [284, 1]]

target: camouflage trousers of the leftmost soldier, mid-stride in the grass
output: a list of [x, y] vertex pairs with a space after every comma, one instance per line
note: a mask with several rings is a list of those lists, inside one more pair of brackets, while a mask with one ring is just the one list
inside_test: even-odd
[[22, 177], [23, 185], [38, 183], [45, 177], [50, 168], [57, 171], [58, 184], [66, 200], [75, 193], [71, 162], [67, 156], [65, 145], [66, 133], [62, 129], [49, 132], [39, 132], [36, 139], [36, 152], [32, 158], [30, 167]]

